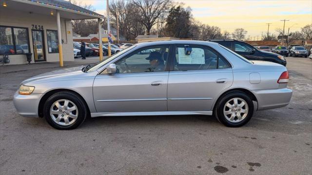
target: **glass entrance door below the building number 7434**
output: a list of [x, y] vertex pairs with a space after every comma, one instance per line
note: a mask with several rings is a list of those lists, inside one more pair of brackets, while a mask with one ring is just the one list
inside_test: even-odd
[[42, 30], [32, 30], [35, 62], [46, 61]]

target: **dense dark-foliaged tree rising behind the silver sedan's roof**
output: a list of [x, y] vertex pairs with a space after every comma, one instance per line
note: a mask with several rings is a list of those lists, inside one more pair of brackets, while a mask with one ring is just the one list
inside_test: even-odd
[[181, 5], [173, 6], [169, 10], [164, 28], [167, 36], [178, 38], [191, 37], [191, 9], [184, 9]]

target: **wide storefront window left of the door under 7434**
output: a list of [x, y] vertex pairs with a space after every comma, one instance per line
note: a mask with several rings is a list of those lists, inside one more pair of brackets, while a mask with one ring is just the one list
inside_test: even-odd
[[26, 28], [0, 26], [0, 54], [29, 53], [28, 43]]

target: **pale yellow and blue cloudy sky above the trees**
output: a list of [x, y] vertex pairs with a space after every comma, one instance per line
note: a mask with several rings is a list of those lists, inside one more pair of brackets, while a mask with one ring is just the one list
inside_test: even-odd
[[[92, 4], [96, 12], [106, 13], [106, 0], [77, 0], [82, 4]], [[110, 0], [111, 1], [111, 0]], [[260, 38], [262, 32], [277, 35], [276, 28], [285, 31], [300, 31], [312, 24], [312, 0], [175, 0], [191, 7], [195, 20], [218, 26], [221, 31], [233, 32], [235, 28], [247, 30], [247, 36]]]

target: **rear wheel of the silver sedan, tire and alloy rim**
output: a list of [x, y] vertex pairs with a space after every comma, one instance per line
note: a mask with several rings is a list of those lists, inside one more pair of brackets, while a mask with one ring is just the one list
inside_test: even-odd
[[[237, 107], [234, 105], [234, 99], [237, 99]], [[245, 105], [242, 104], [244, 101]], [[231, 103], [233, 102], [233, 104]], [[233, 110], [226, 105], [233, 105]], [[240, 105], [243, 105], [240, 107]], [[245, 110], [246, 113], [240, 112]], [[225, 112], [224, 112], [225, 111]], [[225, 115], [228, 112], [230, 114]], [[254, 114], [254, 103], [251, 98], [241, 91], [230, 92], [221, 97], [215, 107], [215, 116], [217, 120], [228, 127], [240, 127], [248, 123]], [[233, 119], [231, 121], [230, 118]], [[235, 115], [237, 114], [237, 115]], [[241, 116], [239, 120], [238, 115]]]

